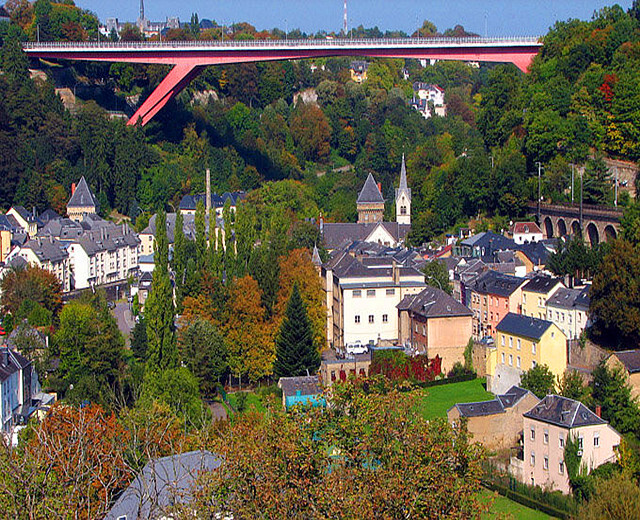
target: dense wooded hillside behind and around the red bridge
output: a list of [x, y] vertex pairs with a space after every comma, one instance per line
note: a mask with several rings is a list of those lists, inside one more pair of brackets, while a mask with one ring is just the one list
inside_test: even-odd
[[[602, 158], [640, 156], [635, 7], [604, 8], [591, 21], [558, 22], [526, 75], [511, 65], [438, 62], [422, 68], [415, 60], [381, 59], [371, 62], [367, 81], [358, 85], [344, 58], [209, 67], [144, 129], [111, 119], [93, 100], [79, 103], [72, 114], [55, 95], [54, 81], [74, 91], [103, 85], [122, 108], [147, 96], [166, 68], [29, 64], [18, 41], [34, 39], [34, 27], [40, 27], [41, 39], [96, 39], [97, 21], [71, 2], [22, 0], [7, 8], [16, 23], [0, 29], [4, 208], [21, 203], [63, 211], [71, 183], [85, 175], [105, 214], [113, 209], [146, 222], [159, 209], [175, 208], [185, 193], [202, 191], [210, 167], [215, 190], [296, 180], [313, 203], [298, 204], [305, 211], [294, 219], [322, 213], [329, 220], [352, 220], [368, 172], [393, 200], [405, 153], [414, 193], [411, 239], [419, 244], [470, 219], [504, 227], [522, 216], [536, 197], [538, 161], [546, 199], [567, 200], [573, 163], [586, 167], [585, 202], [612, 203]], [[123, 38], [140, 37], [129, 29]], [[440, 34], [429, 22], [416, 33]], [[456, 27], [444, 34], [467, 33]], [[199, 30], [194, 17], [168, 38], [221, 35]], [[238, 39], [278, 36], [277, 30], [258, 32], [249, 24], [225, 32]], [[30, 79], [29, 66], [44, 69], [49, 80]], [[412, 110], [414, 81], [445, 89], [447, 117], [425, 120]], [[307, 89], [317, 102], [298, 96]]]

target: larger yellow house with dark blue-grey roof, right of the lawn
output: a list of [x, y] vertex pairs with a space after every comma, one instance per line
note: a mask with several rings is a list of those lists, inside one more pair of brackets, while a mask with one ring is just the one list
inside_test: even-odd
[[494, 350], [487, 357], [487, 390], [506, 392], [536, 365], [547, 365], [561, 376], [567, 368], [566, 345], [566, 336], [554, 323], [510, 312], [498, 324]]

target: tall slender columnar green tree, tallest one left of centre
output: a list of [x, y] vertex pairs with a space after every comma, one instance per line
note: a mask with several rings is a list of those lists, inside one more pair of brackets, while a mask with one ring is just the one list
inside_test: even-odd
[[145, 304], [147, 368], [154, 372], [175, 368], [178, 365], [166, 222], [166, 214], [163, 211], [159, 212], [156, 216], [153, 286]]

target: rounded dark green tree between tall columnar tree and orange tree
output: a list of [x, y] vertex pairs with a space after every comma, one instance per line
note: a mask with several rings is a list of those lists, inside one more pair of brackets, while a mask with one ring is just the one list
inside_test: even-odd
[[180, 357], [198, 379], [202, 393], [213, 394], [216, 382], [227, 371], [227, 348], [218, 329], [196, 319], [181, 332], [178, 345]]

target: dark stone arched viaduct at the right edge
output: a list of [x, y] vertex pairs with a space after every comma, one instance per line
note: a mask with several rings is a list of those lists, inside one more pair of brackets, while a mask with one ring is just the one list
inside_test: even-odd
[[[538, 206], [529, 203], [529, 212], [537, 214]], [[582, 236], [592, 246], [617, 238], [622, 210], [608, 206], [580, 204], [541, 204], [540, 228], [545, 238], [567, 235]]]

